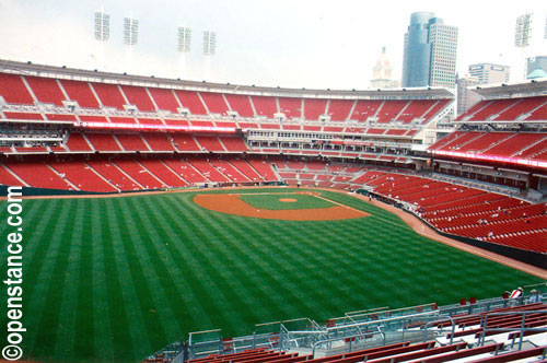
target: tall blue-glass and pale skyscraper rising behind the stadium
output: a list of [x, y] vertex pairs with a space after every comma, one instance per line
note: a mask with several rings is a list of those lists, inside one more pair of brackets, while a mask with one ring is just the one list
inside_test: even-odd
[[454, 87], [456, 48], [457, 27], [431, 12], [412, 13], [405, 34], [403, 86]]

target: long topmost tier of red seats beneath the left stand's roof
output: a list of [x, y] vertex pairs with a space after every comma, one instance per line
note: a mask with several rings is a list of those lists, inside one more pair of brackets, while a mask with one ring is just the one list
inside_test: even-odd
[[10, 104], [35, 103], [63, 106], [68, 101], [80, 107], [112, 107], [124, 110], [129, 105], [140, 112], [187, 109], [193, 115], [229, 115], [274, 118], [283, 113], [287, 118], [318, 120], [328, 116], [334, 121], [364, 121], [375, 117], [379, 122], [396, 119], [409, 124], [414, 119], [428, 121], [442, 110], [450, 99], [375, 101], [336, 99], [286, 96], [259, 96], [222, 92], [170, 90], [100, 82], [51, 79], [0, 73], [0, 95]]

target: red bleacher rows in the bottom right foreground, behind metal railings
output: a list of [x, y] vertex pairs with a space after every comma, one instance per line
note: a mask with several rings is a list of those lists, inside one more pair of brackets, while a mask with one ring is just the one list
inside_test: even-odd
[[[279, 349], [279, 333], [270, 336], [269, 343], [263, 343], [256, 348], [237, 348], [238, 338], [224, 338], [220, 341], [221, 351], [217, 353], [200, 354], [198, 358], [187, 360], [188, 363], [216, 363], [216, 362], [310, 362], [310, 363], [357, 363], [357, 362], [538, 362], [545, 358], [547, 346], [545, 335], [547, 331], [547, 305], [544, 303], [519, 303], [510, 302], [507, 298], [498, 300], [498, 304], [492, 308], [484, 308], [479, 302], [479, 312], [474, 313], [477, 306], [475, 298], [463, 298], [459, 308], [453, 309], [450, 306], [432, 308], [435, 311], [453, 309], [451, 318], [438, 318], [433, 327], [435, 332], [431, 339], [422, 341], [410, 341], [399, 338], [391, 343], [373, 344], [366, 348], [351, 349], [351, 344], [359, 344], [359, 341], [373, 341], [373, 335], [359, 332], [345, 337], [340, 333], [337, 349], [327, 355], [310, 354], [307, 350], [296, 349], [294, 352]], [[407, 318], [416, 313], [423, 312], [422, 306], [406, 308], [405, 312], [385, 311], [380, 314], [363, 316], [369, 324], [374, 320], [382, 321], [382, 317], [393, 316], [393, 319]], [[443, 313], [446, 314], [446, 313]], [[398, 316], [398, 317], [397, 317]], [[415, 316], [416, 317], [416, 316]], [[360, 317], [352, 320], [352, 325], [360, 323]], [[338, 325], [338, 319], [330, 319], [326, 328]], [[364, 320], [363, 320], [364, 321]], [[344, 331], [344, 323], [338, 325]], [[415, 330], [421, 336], [421, 329], [426, 327], [424, 321], [416, 321], [408, 326], [408, 331]], [[452, 328], [452, 329], [451, 329]], [[526, 329], [522, 332], [520, 329]], [[302, 333], [302, 332], [301, 332]], [[519, 348], [521, 339], [527, 344]], [[345, 348], [340, 353], [340, 349]], [[349, 347], [349, 349], [348, 349]], [[358, 346], [359, 347], [359, 346]], [[338, 352], [337, 352], [338, 350]], [[304, 353], [302, 353], [304, 352]], [[315, 350], [312, 351], [312, 353]], [[176, 351], [161, 351], [153, 356], [146, 359], [146, 363], [172, 362]], [[544, 361], [542, 361], [544, 362]]]

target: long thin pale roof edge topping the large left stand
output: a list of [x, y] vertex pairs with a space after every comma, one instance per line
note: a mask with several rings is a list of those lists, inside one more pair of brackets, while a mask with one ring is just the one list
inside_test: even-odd
[[310, 97], [310, 98], [363, 98], [363, 99], [422, 99], [454, 98], [454, 93], [444, 87], [389, 89], [389, 90], [309, 90], [272, 86], [238, 85], [230, 83], [197, 82], [181, 79], [155, 78], [154, 75], [131, 75], [127, 73], [82, 70], [32, 62], [0, 59], [0, 71], [25, 75], [39, 75], [80, 81], [131, 84], [151, 87], [191, 90], [201, 92], [241, 93], [251, 95]]

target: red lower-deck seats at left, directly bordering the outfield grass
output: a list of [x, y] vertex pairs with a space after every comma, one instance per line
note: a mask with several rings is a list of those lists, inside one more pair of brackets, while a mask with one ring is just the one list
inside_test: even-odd
[[92, 159], [89, 161], [0, 164], [0, 184], [117, 192], [221, 183], [263, 183], [278, 178], [271, 165], [244, 159]]

